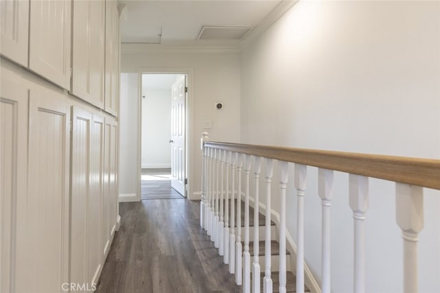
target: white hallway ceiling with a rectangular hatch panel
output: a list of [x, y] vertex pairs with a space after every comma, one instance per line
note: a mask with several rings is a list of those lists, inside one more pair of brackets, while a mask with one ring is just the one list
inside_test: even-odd
[[259, 25], [280, 2], [120, 0], [126, 8], [121, 41], [166, 46], [239, 45], [249, 29]]

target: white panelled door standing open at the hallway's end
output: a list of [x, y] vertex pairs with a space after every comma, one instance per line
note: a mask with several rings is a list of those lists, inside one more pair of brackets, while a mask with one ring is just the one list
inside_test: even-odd
[[171, 187], [186, 196], [186, 76], [179, 78], [171, 91]]

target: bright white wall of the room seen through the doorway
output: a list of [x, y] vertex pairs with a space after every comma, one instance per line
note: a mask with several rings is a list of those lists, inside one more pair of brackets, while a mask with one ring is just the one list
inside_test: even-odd
[[171, 87], [142, 89], [142, 168], [171, 167]]

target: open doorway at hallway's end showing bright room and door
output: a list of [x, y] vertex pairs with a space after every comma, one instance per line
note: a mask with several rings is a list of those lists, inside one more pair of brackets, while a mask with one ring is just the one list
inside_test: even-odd
[[141, 78], [141, 198], [186, 197], [186, 75]]

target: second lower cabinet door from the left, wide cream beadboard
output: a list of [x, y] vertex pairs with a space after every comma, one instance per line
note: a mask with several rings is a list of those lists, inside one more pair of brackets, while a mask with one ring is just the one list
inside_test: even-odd
[[30, 91], [27, 226], [28, 278], [24, 292], [61, 292], [69, 282], [69, 121], [63, 95]]

